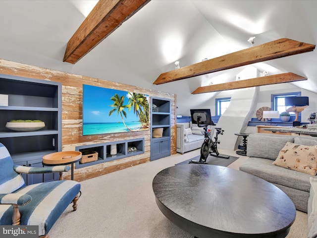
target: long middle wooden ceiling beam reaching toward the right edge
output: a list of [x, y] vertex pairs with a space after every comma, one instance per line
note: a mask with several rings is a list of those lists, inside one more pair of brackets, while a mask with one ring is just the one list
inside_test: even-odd
[[211, 60], [191, 64], [159, 75], [153, 84], [173, 82], [207, 73], [278, 59], [313, 51], [315, 45], [282, 38], [259, 46], [250, 47]]

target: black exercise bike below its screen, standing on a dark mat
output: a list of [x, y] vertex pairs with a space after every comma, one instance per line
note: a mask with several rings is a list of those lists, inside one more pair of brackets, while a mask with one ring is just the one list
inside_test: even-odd
[[[216, 130], [216, 136], [214, 137], [214, 141], [211, 138], [210, 129], [208, 129], [208, 125], [200, 125], [200, 117], [197, 117], [197, 125], [198, 127], [204, 127], [204, 134], [205, 134], [205, 140], [202, 144], [202, 147], [200, 149], [200, 159], [199, 161], [190, 160], [189, 164], [205, 164], [208, 155], [223, 158], [223, 159], [229, 159], [230, 156], [222, 156], [219, 155], [217, 144], [220, 144], [220, 141], [218, 140], [218, 134], [223, 135], [224, 130], [221, 129], [221, 127], [215, 127]], [[215, 125], [213, 121], [211, 121], [211, 125]]]

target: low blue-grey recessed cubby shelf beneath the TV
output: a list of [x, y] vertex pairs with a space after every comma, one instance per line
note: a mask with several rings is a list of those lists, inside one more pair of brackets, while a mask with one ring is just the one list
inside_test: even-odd
[[[110, 147], [111, 145], [116, 145], [117, 153], [115, 155], [110, 155]], [[131, 148], [135, 147], [132, 151]], [[130, 148], [130, 150], [129, 150]], [[76, 162], [76, 169], [83, 168], [86, 166], [97, 165], [100, 163], [105, 163], [112, 160], [118, 160], [122, 158], [126, 158], [129, 156], [139, 155], [144, 153], [144, 138], [136, 138], [130, 140], [121, 140], [121, 141], [111, 141], [99, 144], [91, 144], [91, 145], [81, 145], [76, 146], [75, 150], [77, 151], [94, 151], [98, 153], [97, 161], [92, 161], [88, 163]]]

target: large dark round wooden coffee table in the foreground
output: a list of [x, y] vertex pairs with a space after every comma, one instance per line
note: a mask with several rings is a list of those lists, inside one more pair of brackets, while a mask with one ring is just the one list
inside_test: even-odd
[[160, 211], [198, 238], [285, 238], [296, 216], [282, 190], [221, 166], [164, 169], [153, 179], [153, 190]]

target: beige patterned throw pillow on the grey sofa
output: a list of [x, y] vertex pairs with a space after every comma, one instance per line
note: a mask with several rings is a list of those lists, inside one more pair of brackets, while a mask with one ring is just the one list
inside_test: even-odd
[[291, 170], [316, 175], [317, 173], [317, 146], [300, 145], [287, 142], [278, 153], [273, 165]]

